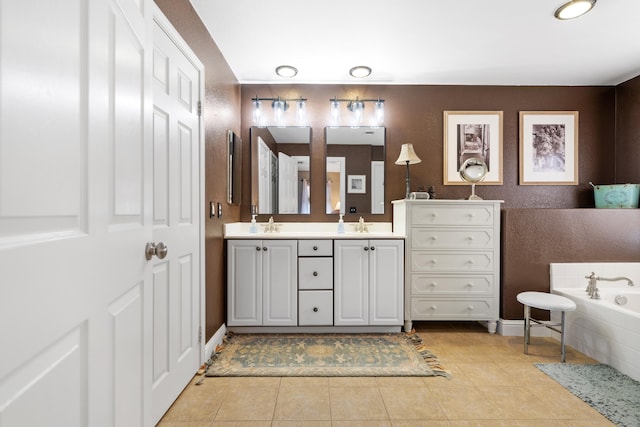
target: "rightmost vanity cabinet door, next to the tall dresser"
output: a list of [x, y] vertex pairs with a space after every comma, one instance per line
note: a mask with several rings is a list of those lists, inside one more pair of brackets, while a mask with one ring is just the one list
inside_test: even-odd
[[404, 323], [404, 241], [369, 242], [369, 324]]

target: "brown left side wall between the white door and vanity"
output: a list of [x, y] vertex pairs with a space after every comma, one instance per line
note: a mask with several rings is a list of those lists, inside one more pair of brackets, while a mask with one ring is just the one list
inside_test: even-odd
[[[240, 135], [240, 85], [189, 0], [155, 0], [205, 66], [205, 274], [206, 339], [226, 321], [223, 224], [240, 220], [240, 206], [226, 197], [227, 130]], [[246, 156], [243, 156], [246, 157]], [[209, 202], [222, 203], [221, 218], [209, 218]]]

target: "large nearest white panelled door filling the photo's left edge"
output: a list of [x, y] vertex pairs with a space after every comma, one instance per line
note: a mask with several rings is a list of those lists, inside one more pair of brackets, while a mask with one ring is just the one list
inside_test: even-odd
[[0, 424], [151, 425], [151, 2], [0, 4]]

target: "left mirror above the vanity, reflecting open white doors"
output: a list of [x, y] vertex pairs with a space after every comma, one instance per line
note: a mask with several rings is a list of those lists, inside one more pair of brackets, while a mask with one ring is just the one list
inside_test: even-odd
[[251, 128], [251, 200], [258, 214], [308, 214], [310, 203], [308, 126]]

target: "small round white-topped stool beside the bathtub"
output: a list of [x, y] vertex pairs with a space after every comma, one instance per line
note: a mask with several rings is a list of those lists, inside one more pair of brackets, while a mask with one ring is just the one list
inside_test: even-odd
[[[519, 302], [524, 304], [524, 354], [529, 354], [528, 350], [529, 338], [531, 336], [531, 326], [544, 326], [545, 328], [549, 328], [555, 332], [560, 333], [560, 362], [564, 363], [564, 314], [567, 311], [575, 310], [576, 303], [571, 301], [569, 298], [555, 294], [548, 294], [545, 292], [521, 292], [516, 298]], [[531, 317], [531, 307], [539, 308], [541, 310], [560, 311], [560, 323], [552, 324], [533, 319]], [[531, 322], [534, 322], [535, 325], [531, 325]]]

